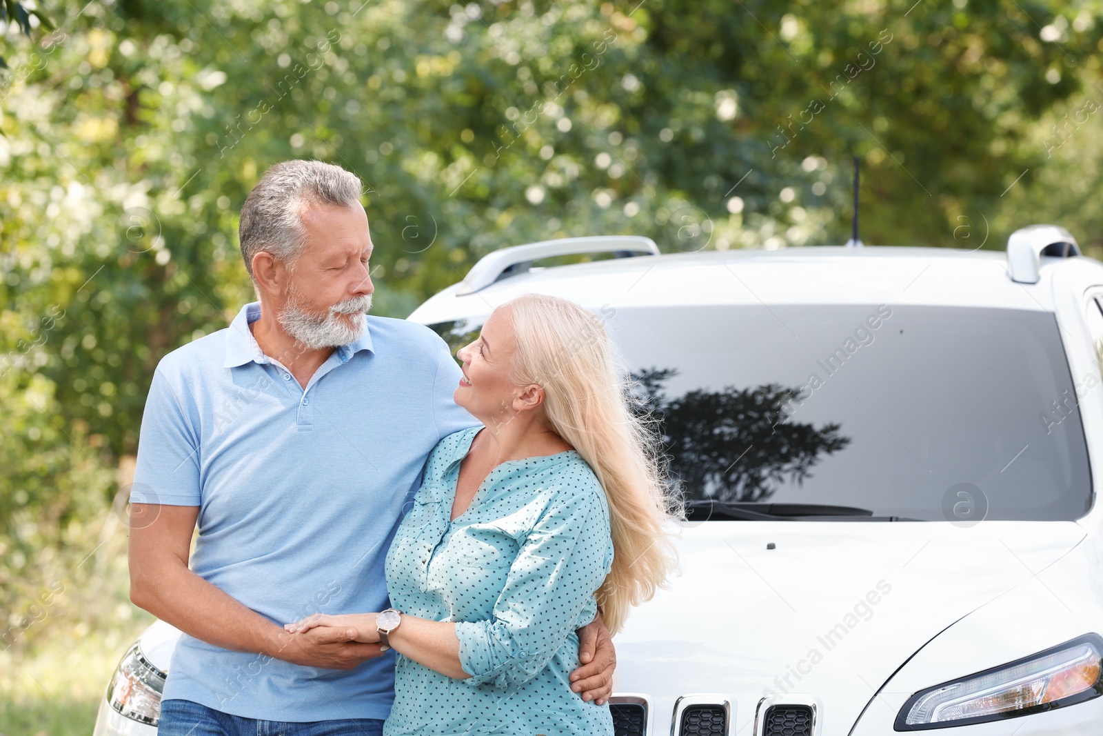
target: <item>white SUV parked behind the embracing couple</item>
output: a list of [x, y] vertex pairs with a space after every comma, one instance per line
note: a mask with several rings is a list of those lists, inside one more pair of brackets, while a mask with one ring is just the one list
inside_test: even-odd
[[[532, 267], [598, 252], [624, 257]], [[525, 291], [606, 319], [690, 499], [681, 574], [617, 638], [618, 736], [1100, 732], [1103, 265], [1068, 232], [553, 241], [410, 319], [458, 346]], [[176, 636], [124, 658], [97, 735], [152, 733]]]

